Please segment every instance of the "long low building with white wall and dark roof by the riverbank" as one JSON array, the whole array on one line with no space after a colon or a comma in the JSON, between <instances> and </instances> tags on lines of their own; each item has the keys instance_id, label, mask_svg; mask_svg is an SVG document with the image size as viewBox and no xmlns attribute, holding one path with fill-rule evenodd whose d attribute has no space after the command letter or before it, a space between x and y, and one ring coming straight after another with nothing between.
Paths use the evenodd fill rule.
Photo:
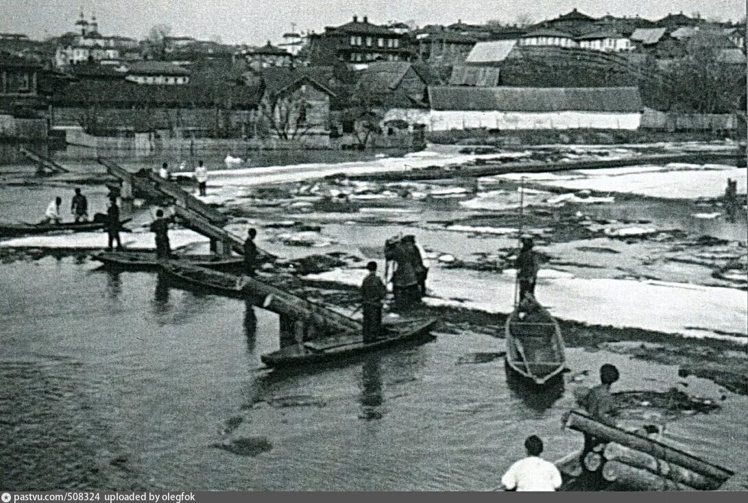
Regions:
<instances>
[{"instance_id":1,"label":"long low building with white wall and dark roof by the riverbank","mask_svg":"<svg viewBox=\"0 0 748 503\"><path fill-rule=\"evenodd\" d=\"M429 131L638 129L638 87L429 87Z\"/></svg>"}]
</instances>

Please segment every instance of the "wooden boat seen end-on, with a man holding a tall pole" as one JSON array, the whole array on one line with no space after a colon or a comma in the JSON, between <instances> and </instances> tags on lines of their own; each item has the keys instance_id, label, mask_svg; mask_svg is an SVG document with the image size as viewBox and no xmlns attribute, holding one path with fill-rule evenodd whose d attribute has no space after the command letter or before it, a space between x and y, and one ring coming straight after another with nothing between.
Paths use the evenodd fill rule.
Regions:
<instances>
[{"instance_id":1,"label":"wooden boat seen end-on, with a man holding a tall pole","mask_svg":"<svg viewBox=\"0 0 748 503\"><path fill-rule=\"evenodd\" d=\"M547 309L539 306L524 319L515 310L506 318L505 333L506 365L512 371L536 385L561 377L565 368L563 338Z\"/></svg>"}]
</instances>

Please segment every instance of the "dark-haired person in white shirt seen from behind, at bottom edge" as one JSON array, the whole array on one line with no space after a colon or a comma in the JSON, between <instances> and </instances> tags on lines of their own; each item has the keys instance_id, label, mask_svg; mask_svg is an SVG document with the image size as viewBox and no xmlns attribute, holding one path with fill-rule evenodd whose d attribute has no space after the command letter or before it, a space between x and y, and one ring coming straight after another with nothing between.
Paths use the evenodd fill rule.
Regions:
<instances>
[{"instance_id":1,"label":"dark-haired person in white shirt seen from behind, at bottom edge","mask_svg":"<svg viewBox=\"0 0 748 503\"><path fill-rule=\"evenodd\" d=\"M540 457L543 441L528 436L524 441L527 457L514 463L501 478L506 490L555 491L561 487L561 473L554 463Z\"/></svg>"}]
</instances>

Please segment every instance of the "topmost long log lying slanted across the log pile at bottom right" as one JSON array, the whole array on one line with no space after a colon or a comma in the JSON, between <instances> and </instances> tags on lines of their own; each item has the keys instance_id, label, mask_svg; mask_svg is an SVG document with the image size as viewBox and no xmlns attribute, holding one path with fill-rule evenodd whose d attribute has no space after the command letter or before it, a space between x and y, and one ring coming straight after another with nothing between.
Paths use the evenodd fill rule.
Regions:
<instances>
[{"instance_id":1,"label":"topmost long log lying slanted across the log pile at bottom right","mask_svg":"<svg viewBox=\"0 0 748 503\"><path fill-rule=\"evenodd\" d=\"M657 442L657 440L648 439L643 436L635 435L634 433L628 433L628 431L623 431L619 428L604 425L603 423L595 421L587 416L583 416L576 411L571 411L571 413L569 413L568 419L566 420L566 426L572 430L596 436L607 442L617 442L626 447L634 448L637 451L651 454L652 456L657 457L657 459L668 463L675 463L683 466L684 468L690 469L700 475L714 478L717 481L720 481L720 484L732 475L732 472L729 469L707 463L696 456Z\"/></svg>"}]
</instances>

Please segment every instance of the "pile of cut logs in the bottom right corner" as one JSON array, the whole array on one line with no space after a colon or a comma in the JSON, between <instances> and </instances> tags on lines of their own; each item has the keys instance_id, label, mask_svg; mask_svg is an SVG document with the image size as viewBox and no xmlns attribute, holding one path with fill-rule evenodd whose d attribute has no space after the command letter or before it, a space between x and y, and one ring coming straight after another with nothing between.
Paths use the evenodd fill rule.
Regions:
<instances>
[{"instance_id":1,"label":"pile of cut logs in the bottom right corner","mask_svg":"<svg viewBox=\"0 0 748 503\"><path fill-rule=\"evenodd\" d=\"M715 490L732 475L721 466L577 412L569 414L566 425L605 443L601 454L589 452L583 463L627 490Z\"/></svg>"}]
</instances>

